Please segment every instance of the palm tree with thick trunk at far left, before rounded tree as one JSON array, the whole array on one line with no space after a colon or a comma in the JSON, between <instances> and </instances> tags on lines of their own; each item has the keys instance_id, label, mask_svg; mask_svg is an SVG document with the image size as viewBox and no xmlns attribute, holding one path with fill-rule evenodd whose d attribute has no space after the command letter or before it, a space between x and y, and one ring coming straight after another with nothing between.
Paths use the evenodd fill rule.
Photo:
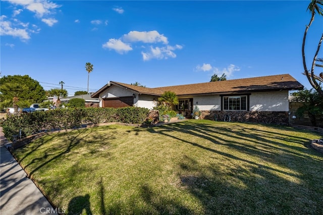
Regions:
<instances>
[{"instance_id":1,"label":"palm tree with thick trunk at far left, before rounded tree","mask_svg":"<svg viewBox=\"0 0 323 215\"><path fill-rule=\"evenodd\" d=\"M19 101L20 94L22 94L27 90L29 90L29 88L26 85L20 84L20 83L14 83L14 82L5 83L1 86L2 93L7 93L13 97L12 103L14 106L14 114L18 114L17 103Z\"/></svg>"}]
</instances>

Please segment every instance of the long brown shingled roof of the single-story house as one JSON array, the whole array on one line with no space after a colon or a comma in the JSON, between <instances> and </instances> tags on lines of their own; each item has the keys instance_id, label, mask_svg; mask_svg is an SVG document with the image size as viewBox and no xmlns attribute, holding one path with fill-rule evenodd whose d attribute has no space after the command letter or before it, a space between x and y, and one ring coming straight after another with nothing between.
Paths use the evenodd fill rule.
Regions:
<instances>
[{"instance_id":1,"label":"long brown shingled roof of the single-story house","mask_svg":"<svg viewBox=\"0 0 323 215\"><path fill-rule=\"evenodd\" d=\"M168 87L140 87L131 84L124 84L120 82L110 82L111 84L125 87L136 91L139 94L149 95L161 95L165 91L173 91L177 95L193 95L193 94L206 94L206 93L245 93L245 92L265 92L265 91L277 91L277 90L299 90L303 89L303 85L300 84L289 74L262 76L255 78L243 78L227 81L214 81L198 84L186 84ZM92 97L98 97L98 94L103 90L110 87L105 85Z\"/></svg>"}]
</instances>

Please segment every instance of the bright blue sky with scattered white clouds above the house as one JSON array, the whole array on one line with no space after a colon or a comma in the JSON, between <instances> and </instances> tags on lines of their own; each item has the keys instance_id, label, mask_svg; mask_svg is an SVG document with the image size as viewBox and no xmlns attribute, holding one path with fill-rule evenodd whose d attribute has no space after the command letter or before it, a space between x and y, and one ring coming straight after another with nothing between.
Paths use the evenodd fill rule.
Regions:
<instances>
[{"instance_id":1,"label":"bright blue sky with scattered white clouds above the house","mask_svg":"<svg viewBox=\"0 0 323 215\"><path fill-rule=\"evenodd\" d=\"M1 75L69 95L109 81L147 87L289 73L307 88L309 1L1 1ZM323 18L309 29L310 64ZM323 57L319 55L319 57ZM308 66L310 67L310 66Z\"/></svg>"}]
</instances>

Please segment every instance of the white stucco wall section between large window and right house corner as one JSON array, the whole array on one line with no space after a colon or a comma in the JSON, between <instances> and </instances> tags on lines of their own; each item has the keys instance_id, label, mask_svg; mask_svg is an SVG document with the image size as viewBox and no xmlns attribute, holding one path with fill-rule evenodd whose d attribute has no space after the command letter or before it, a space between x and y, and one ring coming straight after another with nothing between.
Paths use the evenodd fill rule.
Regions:
<instances>
[{"instance_id":1,"label":"white stucco wall section between large window and right house corner","mask_svg":"<svg viewBox=\"0 0 323 215\"><path fill-rule=\"evenodd\" d=\"M288 90L255 92L250 95L250 111L288 111Z\"/></svg>"}]
</instances>

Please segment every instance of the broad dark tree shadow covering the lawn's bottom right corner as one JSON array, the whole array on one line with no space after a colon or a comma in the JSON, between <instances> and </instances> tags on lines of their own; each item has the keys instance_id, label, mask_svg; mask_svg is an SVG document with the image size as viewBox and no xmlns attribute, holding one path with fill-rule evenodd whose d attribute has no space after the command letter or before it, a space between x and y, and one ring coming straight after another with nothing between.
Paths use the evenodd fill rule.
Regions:
<instances>
[{"instance_id":1,"label":"broad dark tree shadow covering the lawn's bottom right corner","mask_svg":"<svg viewBox=\"0 0 323 215\"><path fill-rule=\"evenodd\" d=\"M179 187L198 198L205 214L321 214L322 197L266 169L199 167L191 157L180 164ZM203 172L197 169L207 169ZM256 175L250 176L250 173ZM304 196L306 193L308 195ZM317 199L315 199L317 197Z\"/></svg>"}]
</instances>

